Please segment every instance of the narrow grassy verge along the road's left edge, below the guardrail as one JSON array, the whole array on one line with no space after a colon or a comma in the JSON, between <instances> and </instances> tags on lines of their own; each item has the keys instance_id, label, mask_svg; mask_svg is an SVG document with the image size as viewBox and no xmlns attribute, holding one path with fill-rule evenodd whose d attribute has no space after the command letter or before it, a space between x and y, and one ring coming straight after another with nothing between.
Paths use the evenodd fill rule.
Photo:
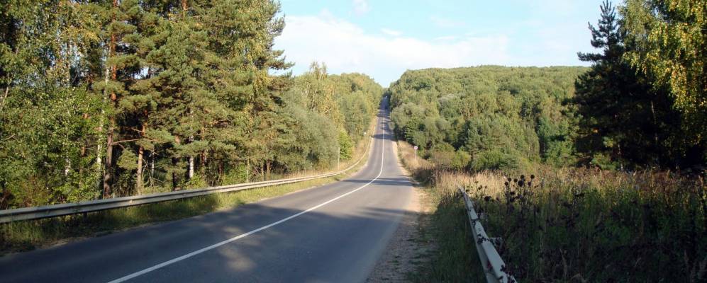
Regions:
<instances>
[{"instance_id":1,"label":"narrow grassy verge along the road's left edge, below the guardrail","mask_svg":"<svg viewBox=\"0 0 707 283\"><path fill-rule=\"evenodd\" d=\"M372 123L372 129L375 121ZM372 132L372 131L371 131ZM225 192L221 194L191 197L189 199L158 202L135 207L91 212L84 215L69 215L50 219L18 221L0 225L0 255L43 248L77 238L102 236L161 221L183 219L191 216L232 209L240 204L257 202L269 197L285 195L289 192L304 190L343 180L357 172L367 161L370 139L361 141L355 148L353 158L342 163L340 168L347 168L363 156L355 168L342 175L306 180L300 183L259 187L251 190ZM311 173L310 175L314 175ZM291 175L288 177L296 177Z\"/></svg>"}]
</instances>

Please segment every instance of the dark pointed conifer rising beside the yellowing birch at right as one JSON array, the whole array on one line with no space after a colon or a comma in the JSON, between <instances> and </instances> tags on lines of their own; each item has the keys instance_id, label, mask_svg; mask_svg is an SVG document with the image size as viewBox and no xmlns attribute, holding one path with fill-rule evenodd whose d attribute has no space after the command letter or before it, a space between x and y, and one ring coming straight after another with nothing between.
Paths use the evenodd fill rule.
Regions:
<instances>
[{"instance_id":1,"label":"dark pointed conifer rising beside the yellowing birch at right","mask_svg":"<svg viewBox=\"0 0 707 283\"><path fill-rule=\"evenodd\" d=\"M589 25L591 45L602 53L579 53L591 71L579 77L574 98L580 115L577 148L605 168L638 164L674 164L680 147L674 144L677 113L671 100L652 88L646 76L625 62L625 31L616 9L605 1L595 28Z\"/></svg>"}]
</instances>

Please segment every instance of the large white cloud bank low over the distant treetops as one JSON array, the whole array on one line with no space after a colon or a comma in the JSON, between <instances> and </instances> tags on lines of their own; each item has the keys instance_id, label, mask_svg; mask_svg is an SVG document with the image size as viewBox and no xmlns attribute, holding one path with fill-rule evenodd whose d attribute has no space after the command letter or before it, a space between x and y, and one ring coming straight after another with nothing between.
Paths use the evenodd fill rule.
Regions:
<instances>
[{"instance_id":1,"label":"large white cloud bank low over the distant treetops","mask_svg":"<svg viewBox=\"0 0 707 283\"><path fill-rule=\"evenodd\" d=\"M285 50L286 59L296 64L296 74L321 61L333 74L362 72L387 86L406 69L511 62L504 35L428 41L369 34L350 22L323 16L287 16L285 21L276 48Z\"/></svg>"}]
</instances>

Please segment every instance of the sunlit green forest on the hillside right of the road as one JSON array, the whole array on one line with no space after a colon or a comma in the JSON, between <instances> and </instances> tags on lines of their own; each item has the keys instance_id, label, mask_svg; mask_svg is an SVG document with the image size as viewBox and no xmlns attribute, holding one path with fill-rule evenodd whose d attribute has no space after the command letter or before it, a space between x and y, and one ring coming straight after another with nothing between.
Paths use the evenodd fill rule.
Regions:
<instances>
[{"instance_id":1,"label":"sunlit green forest on the hillside right of the road","mask_svg":"<svg viewBox=\"0 0 707 283\"><path fill-rule=\"evenodd\" d=\"M574 116L564 102L574 96L572 82L584 71L495 66L407 71L389 89L391 122L399 138L431 150L433 162L457 170L573 163Z\"/></svg>"}]
</instances>

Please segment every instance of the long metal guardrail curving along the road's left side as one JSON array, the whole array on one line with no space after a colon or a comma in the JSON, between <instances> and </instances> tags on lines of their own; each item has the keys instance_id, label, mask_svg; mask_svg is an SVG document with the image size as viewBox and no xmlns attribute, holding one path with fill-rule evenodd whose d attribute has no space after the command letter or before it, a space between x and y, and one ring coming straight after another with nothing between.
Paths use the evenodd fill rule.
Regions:
<instances>
[{"instance_id":1,"label":"long metal guardrail curving along the road's left side","mask_svg":"<svg viewBox=\"0 0 707 283\"><path fill-rule=\"evenodd\" d=\"M372 138L371 138L372 139ZM327 178L335 175L340 175L346 171L351 170L360 163L364 157L369 154L369 149L371 147L371 140L369 139L366 151L364 154L351 166L345 168L342 171L337 171L333 173L323 173L319 175L311 175L305 177L297 178L286 178L278 180L268 180L253 183L243 183L235 185L223 185L218 187L206 187L203 189L195 190L179 190L174 192L157 192L148 195L135 195L131 197L115 197L111 199L104 200L91 200L87 202L74 202L68 204L52 204L45 205L42 207L23 207L18 209L6 209L0 210L0 224L8 223L12 221L30 220L30 219L41 219L49 218L55 216L65 216L70 214L82 214L86 212L97 212L106 209L116 209L121 207L132 207L140 204L150 204L155 202L166 202L169 200L181 200L189 197L198 197L200 195L211 195L220 192L235 192L239 190L248 190L256 187L269 187L273 185L284 185L289 183L298 183L306 180L313 180L319 178Z\"/></svg>"}]
</instances>

